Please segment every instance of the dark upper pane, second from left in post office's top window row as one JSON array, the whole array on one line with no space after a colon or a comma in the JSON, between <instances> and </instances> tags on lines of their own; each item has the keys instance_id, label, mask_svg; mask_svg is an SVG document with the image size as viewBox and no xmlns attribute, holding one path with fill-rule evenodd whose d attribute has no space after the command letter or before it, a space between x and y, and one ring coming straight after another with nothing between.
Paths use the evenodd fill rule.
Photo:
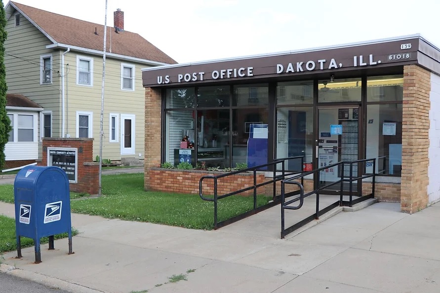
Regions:
<instances>
[{"instance_id":1,"label":"dark upper pane, second from left in post office's top window row","mask_svg":"<svg viewBox=\"0 0 440 293\"><path fill-rule=\"evenodd\" d=\"M198 92L198 107L229 107L230 86L202 86Z\"/></svg>"}]
</instances>

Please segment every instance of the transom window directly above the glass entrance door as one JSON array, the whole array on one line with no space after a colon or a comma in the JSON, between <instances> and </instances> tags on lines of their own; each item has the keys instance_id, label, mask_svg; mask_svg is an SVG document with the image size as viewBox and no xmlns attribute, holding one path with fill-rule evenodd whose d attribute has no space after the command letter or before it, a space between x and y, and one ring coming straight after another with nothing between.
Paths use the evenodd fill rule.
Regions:
<instances>
[{"instance_id":1,"label":"transom window directly above the glass entrance door","mask_svg":"<svg viewBox=\"0 0 440 293\"><path fill-rule=\"evenodd\" d=\"M360 78L330 79L318 81L318 102L357 102L361 98Z\"/></svg>"}]
</instances>

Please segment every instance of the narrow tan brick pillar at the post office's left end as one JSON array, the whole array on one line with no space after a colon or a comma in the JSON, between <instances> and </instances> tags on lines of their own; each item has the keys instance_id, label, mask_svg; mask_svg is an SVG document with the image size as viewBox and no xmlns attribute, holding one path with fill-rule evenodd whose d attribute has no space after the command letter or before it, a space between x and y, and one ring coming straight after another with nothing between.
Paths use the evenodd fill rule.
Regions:
<instances>
[{"instance_id":1,"label":"narrow tan brick pillar at the post office's left end","mask_svg":"<svg viewBox=\"0 0 440 293\"><path fill-rule=\"evenodd\" d=\"M145 89L145 160L144 188L150 189L150 168L160 164L162 133L161 90Z\"/></svg>"}]
</instances>

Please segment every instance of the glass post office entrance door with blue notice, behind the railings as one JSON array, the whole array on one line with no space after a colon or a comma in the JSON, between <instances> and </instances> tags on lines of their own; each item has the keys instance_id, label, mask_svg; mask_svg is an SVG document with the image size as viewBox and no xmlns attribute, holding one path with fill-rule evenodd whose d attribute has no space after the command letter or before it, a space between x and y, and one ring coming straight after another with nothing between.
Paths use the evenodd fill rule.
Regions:
<instances>
[{"instance_id":1,"label":"glass post office entrance door with blue notice, behind the railings","mask_svg":"<svg viewBox=\"0 0 440 293\"><path fill-rule=\"evenodd\" d=\"M341 161L356 161L360 158L360 107L347 106L344 108L318 109L318 139L317 168L330 166ZM350 177L349 165L344 167L345 178ZM358 166L353 166L353 177L358 175ZM334 183L341 178L341 167L330 167L320 172L319 180L315 181L318 187ZM348 190L348 183L344 190ZM340 184L330 186L326 193L337 193ZM353 183L356 194L358 186Z\"/></svg>"}]
</instances>

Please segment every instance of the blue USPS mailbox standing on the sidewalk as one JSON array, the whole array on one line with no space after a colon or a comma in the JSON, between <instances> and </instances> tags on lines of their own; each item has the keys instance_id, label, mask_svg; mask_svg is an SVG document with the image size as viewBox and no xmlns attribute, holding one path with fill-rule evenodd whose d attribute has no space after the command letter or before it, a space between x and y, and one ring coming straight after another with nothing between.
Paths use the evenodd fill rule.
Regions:
<instances>
[{"instance_id":1,"label":"blue USPS mailbox standing on the sidewalk","mask_svg":"<svg viewBox=\"0 0 440 293\"><path fill-rule=\"evenodd\" d=\"M49 236L49 250L54 249L53 235L69 234L72 252L69 179L59 167L28 166L14 181L15 233L17 254L21 255L20 237L34 239L35 262L41 262L40 238Z\"/></svg>"}]
</instances>

